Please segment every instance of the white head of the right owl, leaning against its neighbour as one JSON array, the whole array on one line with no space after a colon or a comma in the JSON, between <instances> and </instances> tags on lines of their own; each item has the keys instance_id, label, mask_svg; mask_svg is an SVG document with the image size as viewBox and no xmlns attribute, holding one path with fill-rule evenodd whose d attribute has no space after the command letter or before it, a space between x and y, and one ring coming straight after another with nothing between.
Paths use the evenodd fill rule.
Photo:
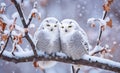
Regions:
<instances>
[{"instance_id":1,"label":"white head of the right owl, leaning against its neighbour","mask_svg":"<svg viewBox=\"0 0 120 73\"><path fill-rule=\"evenodd\" d=\"M77 30L79 27L79 24L72 19L64 19L61 21L61 25L59 27L61 33L70 33L73 30Z\"/></svg>"}]
</instances>

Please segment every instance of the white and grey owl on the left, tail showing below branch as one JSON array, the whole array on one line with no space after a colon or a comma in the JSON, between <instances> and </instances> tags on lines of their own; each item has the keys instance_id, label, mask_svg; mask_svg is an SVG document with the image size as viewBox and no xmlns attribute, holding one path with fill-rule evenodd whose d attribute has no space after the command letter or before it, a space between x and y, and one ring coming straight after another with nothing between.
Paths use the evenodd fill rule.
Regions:
<instances>
[{"instance_id":1,"label":"white and grey owl on the left, tail showing below branch","mask_svg":"<svg viewBox=\"0 0 120 73\"><path fill-rule=\"evenodd\" d=\"M54 17L45 18L38 30L35 32L35 44L38 51L53 54L60 51L59 21ZM55 61L39 61L40 68L50 68L56 64Z\"/></svg>"}]
</instances>

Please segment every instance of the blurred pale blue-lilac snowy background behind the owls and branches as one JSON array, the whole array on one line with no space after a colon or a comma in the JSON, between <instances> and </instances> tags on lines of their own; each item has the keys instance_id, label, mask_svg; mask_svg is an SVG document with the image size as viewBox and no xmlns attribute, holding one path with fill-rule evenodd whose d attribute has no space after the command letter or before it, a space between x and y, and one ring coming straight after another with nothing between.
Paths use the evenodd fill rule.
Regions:
<instances>
[{"instance_id":1,"label":"blurred pale blue-lilac snowy background behind the owls and branches","mask_svg":"<svg viewBox=\"0 0 120 73\"><path fill-rule=\"evenodd\" d=\"M19 3L21 0L17 0ZM30 33L34 35L37 27L41 21L46 17L55 17L60 21L66 18L76 20L79 25L86 31L89 42L94 47L96 45L96 39L99 34L99 25L91 28L87 24L87 20L91 17L102 18L104 0L23 0L23 12L27 18L31 9L33 8L34 1L38 2L37 9L41 13L41 20L33 19L31 23L35 24L35 27L30 29ZM6 15L11 18L11 15L16 12L14 4L10 0L0 0L0 3L6 3ZM120 62L120 0L114 0L111 5L111 10L107 16L113 21L113 27L107 27L102 34L101 45L108 45L112 51L112 60ZM17 20L18 25L22 25L20 20ZM32 31L31 31L32 30ZM26 48L25 44L22 45ZM10 44L8 47L10 48ZM29 46L27 46L29 47ZM58 63L52 68L46 69L46 73L70 73L70 64ZM32 62L28 63L12 63L0 59L0 73L42 73L39 68L34 68ZM79 73L114 73L98 68L83 66Z\"/></svg>"}]
</instances>

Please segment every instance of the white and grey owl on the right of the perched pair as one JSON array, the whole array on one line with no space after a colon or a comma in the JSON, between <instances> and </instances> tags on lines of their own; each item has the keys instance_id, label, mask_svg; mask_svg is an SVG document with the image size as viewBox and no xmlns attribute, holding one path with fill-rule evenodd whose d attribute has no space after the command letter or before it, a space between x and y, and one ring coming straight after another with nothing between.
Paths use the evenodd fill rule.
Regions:
<instances>
[{"instance_id":1,"label":"white and grey owl on the right of the perched pair","mask_svg":"<svg viewBox=\"0 0 120 73\"><path fill-rule=\"evenodd\" d=\"M89 43L87 34L75 20L64 19L61 21L59 30L63 53L73 60L79 60L83 55L88 54Z\"/></svg>"}]
</instances>

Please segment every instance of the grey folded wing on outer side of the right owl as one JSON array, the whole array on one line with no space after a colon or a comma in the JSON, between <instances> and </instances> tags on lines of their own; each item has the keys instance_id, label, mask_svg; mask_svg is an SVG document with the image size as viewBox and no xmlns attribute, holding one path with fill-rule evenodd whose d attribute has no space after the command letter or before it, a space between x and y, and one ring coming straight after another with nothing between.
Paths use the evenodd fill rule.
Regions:
<instances>
[{"instance_id":1,"label":"grey folded wing on outer side of the right owl","mask_svg":"<svg viewBox=\"0 0 120 73\"><path fill-rule=\"evenodd\" d=\"M71 36L68 49L73 59L80 59L84 54L87 54L83 41L85 40L79 31Z\"/></svg>"}]
</instances>

